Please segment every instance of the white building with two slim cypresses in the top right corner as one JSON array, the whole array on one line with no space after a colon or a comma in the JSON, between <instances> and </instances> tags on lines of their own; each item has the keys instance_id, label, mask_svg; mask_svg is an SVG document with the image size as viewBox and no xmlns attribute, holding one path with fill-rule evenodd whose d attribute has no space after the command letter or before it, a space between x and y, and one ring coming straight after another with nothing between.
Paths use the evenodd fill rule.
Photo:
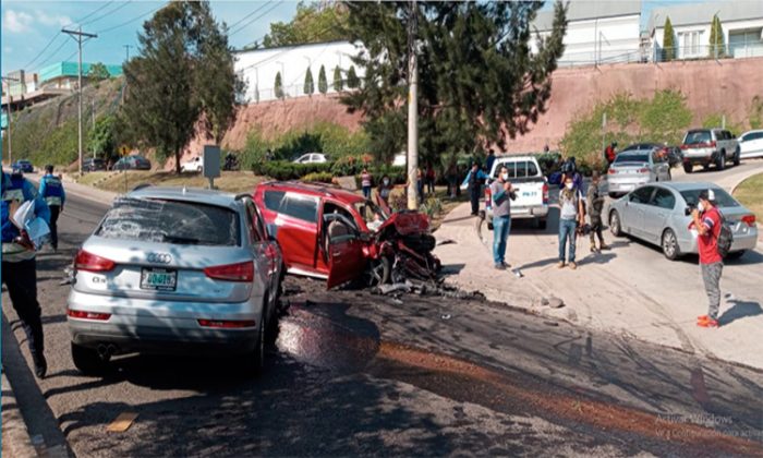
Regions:
<instances>
[{"instance_id":1,"label":"white building with two slim cypresses in the top right corner","mask_svg":"<svg viewBox=\"0 0 763 458\"><path fill-rule=\"evenodd\" d=\"M665 20L670 17L677 59L701 59L711 53L710 33L713 16L718 15L724 33L724 55L763 57L763 1L736 0L656 8L649 22L653 58L664 56Z\"/></svg>"}]
</instances>

